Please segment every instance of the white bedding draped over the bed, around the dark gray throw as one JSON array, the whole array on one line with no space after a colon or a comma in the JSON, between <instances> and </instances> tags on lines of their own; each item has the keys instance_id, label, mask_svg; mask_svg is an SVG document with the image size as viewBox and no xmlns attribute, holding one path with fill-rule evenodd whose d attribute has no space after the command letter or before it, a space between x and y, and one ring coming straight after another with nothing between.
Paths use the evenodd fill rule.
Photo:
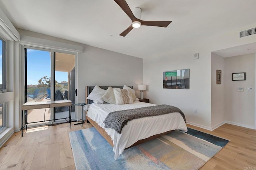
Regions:
<instances>
[{"instance_id":1,"label":"white bedding draped over the bed, around the dark gray throw","mask_svg":"<svg viewBox=\"0 0 256 170\"><path fill-rule=\"evenodd\" d=\"M154 104L135 101L132 104L114 105L114 104L100 104L92 103L88 108L87 116L98 125L106 130L111 137L115 152L115 160L124 151L140 139L148 138L155 134L160 134L169 130L180 129L183 132L188 131L184 119L180 113L171 113L154 117L144 117L129 121L127 125L122 128L121 134L117 133L112 128L104 127L104 120L108 113L113 111L135 109L139 107L153 106Z\"/></svg>"}]
</instances>

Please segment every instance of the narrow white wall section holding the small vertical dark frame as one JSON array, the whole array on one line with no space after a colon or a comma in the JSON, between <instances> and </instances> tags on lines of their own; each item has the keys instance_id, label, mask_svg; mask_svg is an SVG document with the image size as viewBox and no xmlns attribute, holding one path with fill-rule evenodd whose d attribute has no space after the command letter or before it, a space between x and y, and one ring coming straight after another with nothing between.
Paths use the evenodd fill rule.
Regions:
<instances>
[{"instance_id":1,"label":"narrow white wall section holding the small vertical dark frame","mask_svg":"<svg viewBox=\"0 0 256 170\"><path fill-rule=\"evenodd\" d=\"M226 68L225 58L214 53L211 54L211 70L212 70L212 128L221 125L225 119L225 84L226 84ZM222 71L221 84L216 83L216 70Z\"/></svg>"}]
</instances>

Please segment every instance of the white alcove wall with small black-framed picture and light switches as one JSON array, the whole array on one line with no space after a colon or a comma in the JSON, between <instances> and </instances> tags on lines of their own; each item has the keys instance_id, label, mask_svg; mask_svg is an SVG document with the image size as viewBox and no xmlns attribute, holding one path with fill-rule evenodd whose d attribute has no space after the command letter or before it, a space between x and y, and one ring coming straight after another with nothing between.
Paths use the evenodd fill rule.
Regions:
<instances>
[{"instance_id":1,"label":"white alcove wall with small black-framed picture and light switches","mask_svg":"<svg viewBox=\"0 0 256 170\"><path fill-rule=\"evenodd\" d=\"M225 120L243 127L254 128L254 53L225 58ZM246 81L232 81L232 73L246 72ZM244 87L244 91L237 90ZM247 91L252 87L253 91Z\"/></svg>"}]
</instances>

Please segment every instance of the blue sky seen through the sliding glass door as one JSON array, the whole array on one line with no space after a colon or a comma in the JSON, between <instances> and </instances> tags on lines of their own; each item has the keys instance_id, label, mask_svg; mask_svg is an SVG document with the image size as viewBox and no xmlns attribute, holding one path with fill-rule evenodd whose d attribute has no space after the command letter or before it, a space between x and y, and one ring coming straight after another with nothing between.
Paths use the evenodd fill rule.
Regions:
<instances>
[{"instance_id":1,"label":"blue sky seen through the sliding glass door","mask_svg":"<svg viewBox=\"0 0 256 170\"><path fill-rule=\"evenodd\" d=\"M37 85L38 80L51 75L51 59L49 51L27 49L27 85ZM68 72L56 71L56 80L68 81Z\"/></svg>"}]
</instances>

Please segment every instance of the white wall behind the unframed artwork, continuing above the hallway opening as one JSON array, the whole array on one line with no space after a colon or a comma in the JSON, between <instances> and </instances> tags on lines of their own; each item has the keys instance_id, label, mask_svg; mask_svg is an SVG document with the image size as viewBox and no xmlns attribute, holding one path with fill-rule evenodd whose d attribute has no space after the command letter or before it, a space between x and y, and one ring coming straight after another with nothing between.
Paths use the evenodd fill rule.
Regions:
<instances>
[{"instance_id":1,"label":"white wall behind the unframed artwork, continuing above the hallway opening","mask_svg":"<svg viewBox=\"0 0 256 170\"><path fill-rule=\"evenodd\" d=\"M188 123L212 130L215 120L212 123L211 52L255 42L256 35L238 38L239 31L255 26L187 42L179 48L170 49L168 53L159 51L158 56L144 59L143 83L148 85L145 98L152 103L177 106L186 115ZM194 53L199 53L199 59L193 59ZM190 69L190 89L163 89L163 71L176 69ZM198 113L193 113L193 109L197 109Z\"/></svg>"}]
</instances>

